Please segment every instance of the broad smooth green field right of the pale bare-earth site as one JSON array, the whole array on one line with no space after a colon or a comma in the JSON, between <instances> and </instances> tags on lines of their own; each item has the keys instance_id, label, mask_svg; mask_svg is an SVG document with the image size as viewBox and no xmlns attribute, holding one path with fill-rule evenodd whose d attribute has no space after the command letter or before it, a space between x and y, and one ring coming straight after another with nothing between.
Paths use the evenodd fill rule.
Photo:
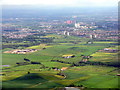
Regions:
<instances>
[{"instance_id":1,"label":"broad smooth green field right of the pale bare-earth site","mask_svg":"<svg viewBox=\"0 0 120 90\"><path fill-rule=\"evenodd\" d=\"M32 53L34 55L48 55L48 56L62 56L64 54L75 54L75 55L91 55L97 50L103 49L105 46L90 46L90 45L55 45L45 50Z\"/></svg>"}]
</instances>

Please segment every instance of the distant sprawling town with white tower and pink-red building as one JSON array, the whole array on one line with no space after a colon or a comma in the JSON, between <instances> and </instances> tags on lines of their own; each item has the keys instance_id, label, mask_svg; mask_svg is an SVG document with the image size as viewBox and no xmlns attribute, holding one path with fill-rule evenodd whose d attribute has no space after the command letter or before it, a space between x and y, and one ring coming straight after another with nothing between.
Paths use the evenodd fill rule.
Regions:
<instances>
[{"instance_id":1,"label":"distant sprawling town with white tower and pink-red building","mask_svg":"<svg viewBox=\"0 0 120 90\"><path fill-rule=\"evenodd\" d=\"M101 25L96 22L77 22L77 16L72 17L73 20L51 20L51 21L37 21L32 26L16 25L15 23L3 23L2 30L3 36L7 38L23 38L29 35L45 33L45 34L58 34L58 35L73 35L79 37L86 37L97 39L118 39L119 31L117 30L117 19L112 17L105 19ZM42 18L37 18L37 20ZM75 20L74 20L75 19ZM93 18L91 18L93 19ZM26 18L9 18L3 21L26 21ZM36 20L30 18L27 20ZM90 19L89 19L90 20ZM32 22L32 21L31 21ZM104 31L103 31L104 30Z\"/></svg>"}]
</instances>

